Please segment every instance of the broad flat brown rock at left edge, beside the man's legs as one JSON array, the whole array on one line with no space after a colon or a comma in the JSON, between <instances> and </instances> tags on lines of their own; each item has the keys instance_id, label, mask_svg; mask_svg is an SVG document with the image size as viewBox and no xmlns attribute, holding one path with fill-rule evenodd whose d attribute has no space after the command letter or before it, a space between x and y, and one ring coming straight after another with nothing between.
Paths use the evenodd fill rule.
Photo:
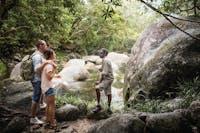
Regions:
<instances>
[{"instance_id":1,"label":"broad flat brown rock at left edge, beside the man's legs","mask_svg":"<svg viewBox=\"0 0 200 133\"><path fill-rule=\"evenodd\" d=\"M15 82L5 79L0 83L3 87L0 91L1 100L10 108L30 110L33 87L30 81Z\"/></svg>"}]
</instances>

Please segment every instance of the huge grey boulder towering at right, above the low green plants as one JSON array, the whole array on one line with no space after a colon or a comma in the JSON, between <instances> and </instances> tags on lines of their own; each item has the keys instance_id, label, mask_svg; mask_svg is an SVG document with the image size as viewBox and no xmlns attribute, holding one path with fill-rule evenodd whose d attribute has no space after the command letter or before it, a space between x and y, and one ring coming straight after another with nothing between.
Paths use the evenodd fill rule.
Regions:
<instances>
[{"instance_id":1,"label":"huge grey boulder towering at right, above the low green plants","mask_svg":"<svg viewBox=\"0 0 200 133\"><path fill-rule=\"evenodd\" d=\"M192 36L200 37L198 23L172 21ZM151 25L132 47L124 79L125 101L134 101L138 93L144 98L175 97L178 80L191 80L200 73L199 53L200 41L167 20Z\"/></svg>"}]
</instances>

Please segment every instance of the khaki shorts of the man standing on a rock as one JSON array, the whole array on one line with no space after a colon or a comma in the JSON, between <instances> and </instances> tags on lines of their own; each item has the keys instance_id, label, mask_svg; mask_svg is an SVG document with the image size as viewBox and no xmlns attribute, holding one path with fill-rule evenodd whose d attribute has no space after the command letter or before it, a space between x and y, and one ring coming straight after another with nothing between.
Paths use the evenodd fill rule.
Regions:
<instances>
[{"instance_id":1,"label":"khaki shorts of the man standing on a rock","mask_svg":"<svg viewBox=\"0 0 200 133\"><path fill-rule=\"evenodd\" d=\"M96 89L104 90L105 95L111 94L111 85L113 80L103 80L101 83L95 86Z\"/></svg>"}]
</instances>

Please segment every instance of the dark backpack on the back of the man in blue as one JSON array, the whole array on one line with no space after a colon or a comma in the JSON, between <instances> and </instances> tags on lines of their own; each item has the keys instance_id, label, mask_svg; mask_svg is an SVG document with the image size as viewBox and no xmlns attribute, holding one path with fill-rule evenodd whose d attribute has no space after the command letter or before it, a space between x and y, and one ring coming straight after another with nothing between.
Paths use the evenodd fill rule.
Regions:
<instances>
[{"instance_id":1,"label":"dark backpack on the back of the man in blue","mask_svg":"<svg viewBox=\"0 0 200 133\"><path fill-rule=\"evenodd\" d=\"M26 55L21 61L20 75L25 81L34 79L32 55Z\"/></svg>"}]
</instances>

